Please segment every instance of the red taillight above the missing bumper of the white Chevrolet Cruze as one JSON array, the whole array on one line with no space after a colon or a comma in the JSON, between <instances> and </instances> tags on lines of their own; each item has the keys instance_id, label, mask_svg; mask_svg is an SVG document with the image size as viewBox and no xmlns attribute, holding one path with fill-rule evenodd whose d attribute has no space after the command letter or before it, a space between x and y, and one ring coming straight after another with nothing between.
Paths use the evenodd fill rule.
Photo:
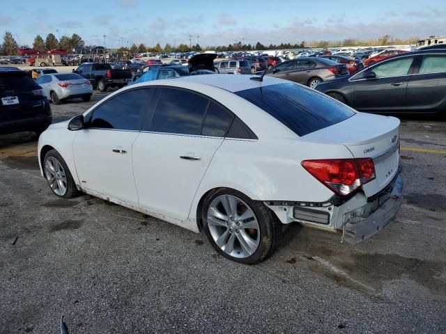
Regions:
<instances>
[{"instance_id":1,"label":"red taillight above the missing bumper of the white Chevrolet Cruze","mask_svg":"<svg viewBox=\"0 0 446 334\"><path fill-rule=\"evenodd\" d=\"M374 161L370 158L305 160L302 166L341 196L353 193L375 178Z\"/></svg>"}]
</instances>

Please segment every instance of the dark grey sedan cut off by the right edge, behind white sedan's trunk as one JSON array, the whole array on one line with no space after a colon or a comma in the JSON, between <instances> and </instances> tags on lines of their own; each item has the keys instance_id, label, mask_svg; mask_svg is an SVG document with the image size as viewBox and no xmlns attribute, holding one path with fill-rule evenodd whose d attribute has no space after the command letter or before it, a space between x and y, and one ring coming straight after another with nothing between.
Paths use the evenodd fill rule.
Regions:
<instances>
[{"instance_id":1,"label":"dark grey sedan cut off by the right edge, behind white sedan's trunk","mask_svg":"<svg viewBox=\"0 0 446 334\"><path fill-rule=\"evenodd\" d=\"M365 67L316 90L359 111L446 114L446 50L415 51Z\"/></svg>"}]
</instances>

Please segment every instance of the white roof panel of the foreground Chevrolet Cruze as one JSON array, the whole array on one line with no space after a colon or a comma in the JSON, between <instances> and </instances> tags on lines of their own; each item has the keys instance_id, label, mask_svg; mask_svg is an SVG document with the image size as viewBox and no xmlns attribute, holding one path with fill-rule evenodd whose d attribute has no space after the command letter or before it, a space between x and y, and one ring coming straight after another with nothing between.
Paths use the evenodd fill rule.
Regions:
<instances>
[{"instance_id":1,"label":"white roof panel of the foreground Chevrolet Cruze","mask_svg":"<svg viewBox=\"0 0 446 334\"><path fill-rule=\"evenodd\" d=\"M263 81L251 80L251 77L258 77L254 75L228 75L228 74L210 74L210 75L191 75L186 77L180 77L174 80L169 80L169 83L173 81L191 82L195 84L203 84L208 86L214 86L228 90L231 93L238 92L240 90L247 90L251 88L259 88L262 86L270 86L277 84L284 84L286 80L263 77ZM148 81L151 84L157 84L157 82L164 80Z\"/></svg>"}]
</instances>

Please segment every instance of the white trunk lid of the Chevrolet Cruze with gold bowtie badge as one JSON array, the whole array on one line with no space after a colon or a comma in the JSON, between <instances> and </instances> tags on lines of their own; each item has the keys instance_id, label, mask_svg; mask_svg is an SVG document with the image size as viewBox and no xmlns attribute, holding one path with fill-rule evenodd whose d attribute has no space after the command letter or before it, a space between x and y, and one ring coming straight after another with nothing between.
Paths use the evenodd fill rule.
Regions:
<instances>
[{"instance_id":1,"label":"white trunk lid of the Chevrolet Cruze with gold bowtie badge","mask_svg":"<svg viewBox=\"0 0 446 334\"><path fill-rule=\"evenodd\" d=\"M384 189L398 173L398 118L356 113L343 122L307 134L302 139L341 144L355 158L373 158L376 177L362 186L367 197Z\"/></svg>"}]
</instances>

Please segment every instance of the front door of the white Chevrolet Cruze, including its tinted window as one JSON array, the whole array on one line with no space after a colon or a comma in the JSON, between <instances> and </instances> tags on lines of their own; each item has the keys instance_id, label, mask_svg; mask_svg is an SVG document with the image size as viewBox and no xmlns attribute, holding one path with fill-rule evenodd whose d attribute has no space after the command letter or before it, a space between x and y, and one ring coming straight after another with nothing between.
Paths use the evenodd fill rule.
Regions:
<instances>
[{"instance_id":1,"label":"front door of the white Chevrolet Cruze, including its tinted window","mask_svg":"<svg viewBox=\"0 0 446 334\"><path fill-rule=\"evenodd\" d=\"M84 189L137 205L132 145L154 88L126 90L86 116L73 143L77 177Z\"/></svg>"}]
</instances>

